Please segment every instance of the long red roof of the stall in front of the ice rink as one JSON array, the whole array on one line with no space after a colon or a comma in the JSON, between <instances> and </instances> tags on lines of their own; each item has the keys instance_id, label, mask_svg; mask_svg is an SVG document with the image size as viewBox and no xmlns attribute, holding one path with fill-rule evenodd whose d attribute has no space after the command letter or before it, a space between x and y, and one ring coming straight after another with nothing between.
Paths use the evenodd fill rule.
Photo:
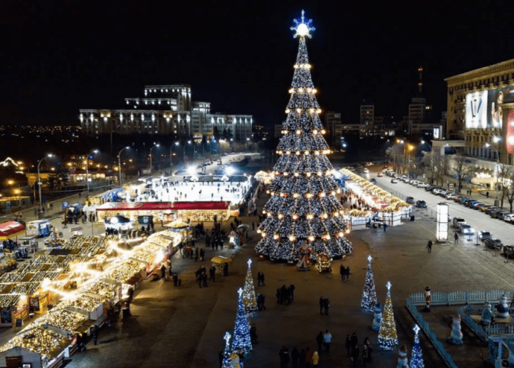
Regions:
<instances>
[{"instance_id":1,"label":"long red roof of the stall in front of the ice rink","mask_svg":"<svg viewBox=\"0 0 514 368\"><path fill-rule=\"evenodd\" d=\"M106 202L97 211L226 210L230 202Z\"/></svg>"}]
</instances>

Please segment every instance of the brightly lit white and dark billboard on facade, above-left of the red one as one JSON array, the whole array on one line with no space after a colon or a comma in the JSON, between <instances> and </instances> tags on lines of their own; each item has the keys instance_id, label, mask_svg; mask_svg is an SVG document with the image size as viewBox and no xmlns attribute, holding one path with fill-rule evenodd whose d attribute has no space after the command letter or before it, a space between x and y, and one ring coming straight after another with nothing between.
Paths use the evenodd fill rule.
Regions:
<instances>
[{"instance_id":1,"label":"brightly lit white and dark billboard on facade, above-left of the red one","mask_svg":"<svg viewBox=\"0 0 514 368\"><path fill-rule=\"evenodd\" d=\"M466 95L466 128L502 129L503 111L500 104L513 101L513 87L468 93Z\"/></svg>"}]
</instances>

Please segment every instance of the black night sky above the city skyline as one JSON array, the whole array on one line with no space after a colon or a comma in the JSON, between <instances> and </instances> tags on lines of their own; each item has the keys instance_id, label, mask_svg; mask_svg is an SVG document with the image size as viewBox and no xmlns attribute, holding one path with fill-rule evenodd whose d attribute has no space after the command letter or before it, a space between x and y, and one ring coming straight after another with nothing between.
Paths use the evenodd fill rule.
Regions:
<instances>
[{"instance_id":1,"label":"black night sky above the city skyline","mask_svg":"<svg viewBox=\"0 0 514 368\"><path fill-rule=\"evenodd\" d=\"M514 58L511 1L0 1L0 123L77 124L145 84L191 84L212 112L285 119L305 9L323 110L358 119L363 98L400 118L417 92L437 116L444 77Z\"/></svg>"}]
</instances>

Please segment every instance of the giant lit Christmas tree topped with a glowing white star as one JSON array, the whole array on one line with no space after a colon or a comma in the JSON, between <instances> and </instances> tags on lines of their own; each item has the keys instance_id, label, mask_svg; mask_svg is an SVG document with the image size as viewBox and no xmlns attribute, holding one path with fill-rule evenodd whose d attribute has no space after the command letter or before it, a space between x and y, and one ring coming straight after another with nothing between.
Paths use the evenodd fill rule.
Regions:
<instances>
[{"instance_id":1,"label":"giant lit Christmas tree topped with a glowing white star","mask_svg":"<svg viewBox=\"0 0 514 368\"><path fill-rule=\"evenodd\" d=\"M327 154L329 146L323 138L321 112L312 83L306 38L310 38L312 20L294 20L294 37L300 39L294 64L290 101L285 113L283 136L277 147L274 180L268 188L270 200L263 213L261 241L257 253L272 260L299 260L301 247L312 254L325 253L331 258L352 252L344 238L346 226L342 206L336 198L340 188L334 180Z\"/></svg>"}]
</instances>

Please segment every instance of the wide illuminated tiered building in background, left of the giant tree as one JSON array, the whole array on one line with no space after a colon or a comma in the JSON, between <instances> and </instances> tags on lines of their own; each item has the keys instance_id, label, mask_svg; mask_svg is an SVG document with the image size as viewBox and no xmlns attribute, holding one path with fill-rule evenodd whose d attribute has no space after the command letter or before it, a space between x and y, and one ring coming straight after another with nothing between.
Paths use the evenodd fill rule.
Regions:
<instances>
[{"instance_id":1,"label":"wide illuminated tiered building in background, left of the giant tree","mask_svg":"<svg viewBox=\"0 0 514 368\"><path fill-rule=\"evenodd\" d=\"M173 134L177 138L231 132L235 140L252 135L252 115L211 114L211 103L191 100L191 86L145 86L144 97L127 97L124 108L80 109L83 134Z\"/></svg>"}]
</instances>

